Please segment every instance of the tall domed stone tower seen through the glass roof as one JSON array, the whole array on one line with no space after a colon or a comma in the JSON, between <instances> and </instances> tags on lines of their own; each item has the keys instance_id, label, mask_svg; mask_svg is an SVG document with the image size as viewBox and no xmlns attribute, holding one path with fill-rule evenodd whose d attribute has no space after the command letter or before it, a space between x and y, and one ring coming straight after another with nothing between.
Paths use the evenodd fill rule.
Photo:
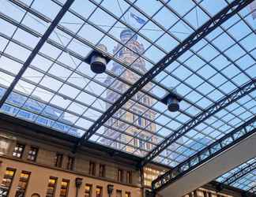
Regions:
<instances>
[{"instance_id":1,"label":"tall domed stone tower seen through the glass roof","mask_svg":"<svg viewBox=\"0 0 256 197\"><path fill-rule=\"evenodd\" d=\"M137 55L143 54L145 49L144 46L137 41L137 35L134 35L134 32L130 31L130 29L124 29L120 33L120 39L127 48L123 47L121 44L115 46L113 50L115 57L124 61L126 65L130 65L132 69L137 69L142 74L145 74L145 72L147 72L145 61ZM135 54L133 50L136 51L137 54ZM123 68L122 65L119 65L117 62L113 63L111 71L117 76L122 74L121 77L130 81L131 84L138 80L139 77L134 75L134 72L129 69ZM105 82L110 84L111 88L120 91L120 94L123 94L129 88L119 80L114 81L110 76ZM152 85L148 84L145 89L149 90L150 87L152 87ZM154 119L156 113L149 110L148 107L152 105L152 98L147 95L141 98L142 95L143 94L141 92L134 95L134 100L139 100L142 105L138 102L134 104L134 102L128 101L124 106L122 106L122 109L129 109L130 112L133 113L120 109L107 121L107 125L112 128L105 129L105 136L107 136L108 139L102 139L102 143L130 153L133 153L138 148L140 151L135 152L135 154L139 154L141 156L145 154L145 150L149 151L152 149L152 142L156 141L156 137L152 136L150 133L156 132L156 125L150 120ZM106 99L110 102L115 102L118 97L119 94L115 91L107 91ZM107 104L107 107L109 106L110 104ZM147 112L145 113L145 111ZM142 115L142 113L145 114ZM120 114L122 114L121 117ZM139 114L141 114L141 116L139 116ZM117 121L117 119L115 119L116 117L119 117L122 121ZM127 125L125 122L131 123L132 126ZM145 129L149 132L145 132ZM125 133L121 134L118 130L125 131ZM136 136L136 139L133 139L134 136ZM124 144L127 143L128 146L119 142L113 142L111 139L116 139ZM147 143L143 139L149 142Z\"/></svg>"}]
</instances>

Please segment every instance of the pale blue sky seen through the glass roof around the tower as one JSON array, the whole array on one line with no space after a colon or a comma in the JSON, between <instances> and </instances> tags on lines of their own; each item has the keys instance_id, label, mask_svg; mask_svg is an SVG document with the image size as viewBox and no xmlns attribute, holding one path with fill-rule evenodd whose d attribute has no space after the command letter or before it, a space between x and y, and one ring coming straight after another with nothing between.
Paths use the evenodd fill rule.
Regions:
<instances>
[{"instance_id":1,"label":"pale blue sky seen through the glass roof around the tower","mask_svg":"<svg viewBox=\"0 0 256 197\"><path fill-rule=\"evenodd\" d=\"M12 2L0 1L0 85L5 88L9 87L23 62L40 40L40 36L51 24L50 21L61 9L51 0L21 2L39 12L44 20L32 13L25 13L24 9L13 5ZM59 1L59 4L64 2ZM36 55L22 80L15 87L15 91L20 91L29 98L40 97L39 102L62 110L62 116L83 134L107 110L105 98L107 88L111 87L105 83L107 76L113 80L122 78L127 83L134 84L134 81L125 79L122 74L115 76L115 73L111 72L113 61L107 65L107 72L95 75L89 65L81 61L92 51L92 46L104 44L109 55L114 56L113 49L120 43L120 32L124 28L130 28L137 32L137 41L145 47L145 53L141 56L146 69L151 69L194 30L227 6L225 0L165 2L166 6L155 0L146 3L145 0L75 0L70 12L66 13L59 23L59 27L72 32L76 38L72 38L61 28L55 28L55 32L49 38L51 43L43 45L40 54ZM137 23L130 13L145 20L145 23ZM23 30L10 24L6 17L18 24L21 23ZM239 15L216 28L152 80L152 90L148 94L153 97L153 102L149 107L156 111L154 121L157 143L202 110L256 76L256 38L253 32L255 28L256 20L250 14L250 9L243 9ZM8 38L12 39L12 42L9 42ZM60 48L66 51L62 52ZM9 56L16 59L13 61ZM122 59L117 58L115 61L122 62ZM130 69L130 66L127 68ZM143 74L136 69L132 72L137 77ZM128 87L127 85L126 88ZM169 112L167 106L160 102L160 99L173 89L183 97L180 103L181 110L176 113ZM119 92L116 88L113 91ZM123 92L119 92L119 96L121 93ZM192 154L198 151L191 150L189 144L205 138L210 139L206 140L207 143L201 143L202 147L205 147L211 140L232 131L255 113L253 91L190 130L183 137L182 143L175 143L176 150L171 150L172 156L164 159L162 155L160 160L168 165L177 165L189 156L184 152L189 150ZM39 115L43 115L43 110ZM100 128L91 140L100 143L104 131L104 127ZM122 151L125 151L127 146L130 144L124 143ZM133 154L144 156L147 151L149 150L134 151Z\"/></svg>"}]
</instances>

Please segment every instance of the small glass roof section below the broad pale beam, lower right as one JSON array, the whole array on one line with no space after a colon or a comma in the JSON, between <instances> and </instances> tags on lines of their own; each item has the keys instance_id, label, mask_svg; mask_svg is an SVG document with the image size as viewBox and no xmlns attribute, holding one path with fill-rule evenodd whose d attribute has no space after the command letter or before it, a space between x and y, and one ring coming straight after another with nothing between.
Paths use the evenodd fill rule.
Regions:
<instances>
[{"instance_id":1,"label":"small glass roof section below the broad pale beam, lower right","mask_svg":"<svg viewBox=\"0 0 256 197\"><path fill-rule=\"evenodd\" d=\"M228 177L232 177L233 174L239 172L241 169L246 168L248 165L252 165L256 162L256 158L252 158L249 161L243 163L242 165L239 165L235 169L232 169L228 173L225 173L221 177L217 178L217 181L223 182ZM254 188L256 188L256 169L250 171L250 173L245 174L243 177L240 177L239 179L235 180L231 184L232 187L242 189L244 191L255 191Z\"/></svg>"}]
</instances>

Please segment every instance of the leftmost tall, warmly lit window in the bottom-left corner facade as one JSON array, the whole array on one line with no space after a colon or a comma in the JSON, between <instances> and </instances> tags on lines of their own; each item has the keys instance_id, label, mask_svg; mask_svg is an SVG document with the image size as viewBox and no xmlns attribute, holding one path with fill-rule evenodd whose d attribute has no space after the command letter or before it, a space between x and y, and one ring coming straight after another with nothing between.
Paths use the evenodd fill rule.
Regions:
<instances>
[{"instance_id":1,"label":"leftmost tall, warmly lit window in the bottom-left corner facade","mask_svg":"<svg viewBox=\"0 0 256 197\"><path fill-rule=\"evenodd\" d=\"M13 177L15 175L16 169L6 169L6 173L2 179L2 184L0 185L0 196L6 197L9 194L9 190L13 183Z\"/></svg>"}]
</instances>

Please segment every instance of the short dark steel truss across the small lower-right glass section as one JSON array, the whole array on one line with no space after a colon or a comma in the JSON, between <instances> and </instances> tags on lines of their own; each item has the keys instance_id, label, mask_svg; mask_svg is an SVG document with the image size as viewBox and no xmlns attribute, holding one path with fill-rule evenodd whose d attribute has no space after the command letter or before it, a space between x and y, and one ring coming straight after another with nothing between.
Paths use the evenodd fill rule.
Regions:
<instances>
[{"instance_id":1,"label":"short dark steel truss across the small lower-right glass section","mask_svg":"<svg viewBox=\"0 0 256 197\"><path fill-rule=\"evenodd\" d=\"M243 176L247 175L256 169L256 162L252 162L249 165L244 166L243 168L239 169L238 172L232 174L232 176L227 177L222 183L223 184L233 184L236 180L239 180Z\"/></svg>"}]
</instances>

